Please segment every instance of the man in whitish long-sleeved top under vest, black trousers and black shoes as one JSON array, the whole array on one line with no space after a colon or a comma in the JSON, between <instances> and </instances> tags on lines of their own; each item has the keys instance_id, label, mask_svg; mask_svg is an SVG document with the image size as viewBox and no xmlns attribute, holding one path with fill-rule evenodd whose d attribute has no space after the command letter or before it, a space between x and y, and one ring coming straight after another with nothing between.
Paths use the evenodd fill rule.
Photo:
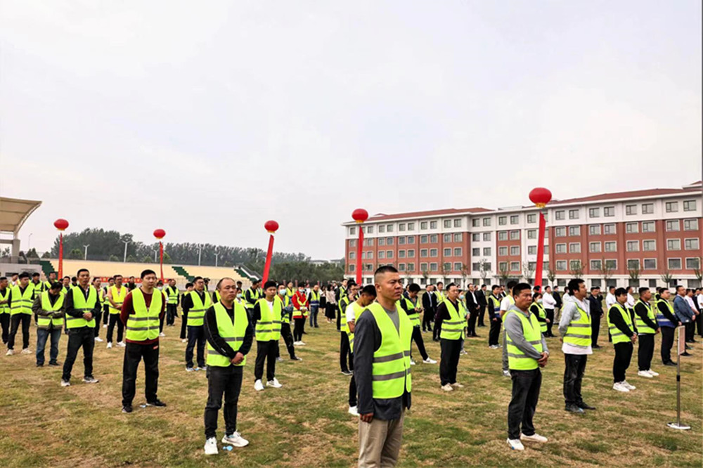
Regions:
<instances>
[{"instance_id":1,"label":"man in whitish long-sleeved top under vest, black trousers and black shoes","mask_svg":"<svg viewBox=\"0 0 703 468\"><path fill-rule=\"evenodd\" d=\"M569 281L569 300L564 298L562 318L559 322L559 334L564 353L566 369L564 372L565 410L583 413L583 410L595 410L583 402L581 381L586 371L588 355L591 349L591 313L586 301L586 283L579 278Z\"/></svg>"}]
</instances>

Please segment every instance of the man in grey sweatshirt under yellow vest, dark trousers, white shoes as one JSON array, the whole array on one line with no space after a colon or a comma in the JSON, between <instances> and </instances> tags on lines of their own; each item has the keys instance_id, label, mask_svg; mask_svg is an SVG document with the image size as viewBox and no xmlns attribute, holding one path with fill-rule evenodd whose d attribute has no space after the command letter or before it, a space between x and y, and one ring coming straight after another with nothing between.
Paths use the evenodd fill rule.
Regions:
<instances>
[{"instance_id":1,"label":"man in grey sweatshirt under yellow vest, dark trousers, white shoes","mask_svg":"<svg viewBox=\"0 0 703 468\"><path fill-rule=\"evenodd\" d=\"M515 304L503 315L512 379L512 399L508 405L508 445L512 450L524 450L522 441L547 441L545 436L535 432L532 418L542 386L539 368L547 365L549 349L537 316L529 308L533 299L529 285L521 282L513 286L512 297Z\"/></svg>"}]
</instances>

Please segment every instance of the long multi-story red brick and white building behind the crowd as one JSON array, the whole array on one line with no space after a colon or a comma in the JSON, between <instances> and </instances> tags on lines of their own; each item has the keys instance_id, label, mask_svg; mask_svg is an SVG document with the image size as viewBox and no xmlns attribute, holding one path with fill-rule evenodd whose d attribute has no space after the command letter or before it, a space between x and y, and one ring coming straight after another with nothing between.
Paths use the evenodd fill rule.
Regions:
<instances>
[{"instance_id":1,"label":"long multi-story red brick and white building behind the crowd","mask_svg":"<svg viewBox=\"0 0 703 468\"><path fill-rule=\"evenodd\" d=\"M579 276L592 285L700 285L701 182L554 200L546 207L544 284ZM344 259L356 275L359 225L346 230ZM538 209L437 209L376 214L363 223L363 281L392 264L408 281L534 279Z\"/></svg>"}]
</instances>

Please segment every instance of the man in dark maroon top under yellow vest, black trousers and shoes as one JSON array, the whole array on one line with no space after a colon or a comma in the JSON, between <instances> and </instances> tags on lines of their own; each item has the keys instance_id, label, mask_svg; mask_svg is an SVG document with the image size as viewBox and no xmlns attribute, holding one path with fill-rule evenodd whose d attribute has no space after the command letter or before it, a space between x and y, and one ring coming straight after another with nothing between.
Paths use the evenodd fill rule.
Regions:
<instances>
[{"instance_id":1,"label":"man in dark maroon top under yellow vest, black trousers and shoes","mask_svg":"<svg viewBox=\"0 0 703 468\"><path fill-rule=\"evenodd\" d=\"M136 371L144 360L146 405L162 408L166 403L157 398L159 386L159 324L165 315L166 301L155 289L156 273L141 272L141 286L124 298L120 320L124 324L124 363L122 365L122 412L132 412L136 393Z\"/></svg>"}]
</instances>

